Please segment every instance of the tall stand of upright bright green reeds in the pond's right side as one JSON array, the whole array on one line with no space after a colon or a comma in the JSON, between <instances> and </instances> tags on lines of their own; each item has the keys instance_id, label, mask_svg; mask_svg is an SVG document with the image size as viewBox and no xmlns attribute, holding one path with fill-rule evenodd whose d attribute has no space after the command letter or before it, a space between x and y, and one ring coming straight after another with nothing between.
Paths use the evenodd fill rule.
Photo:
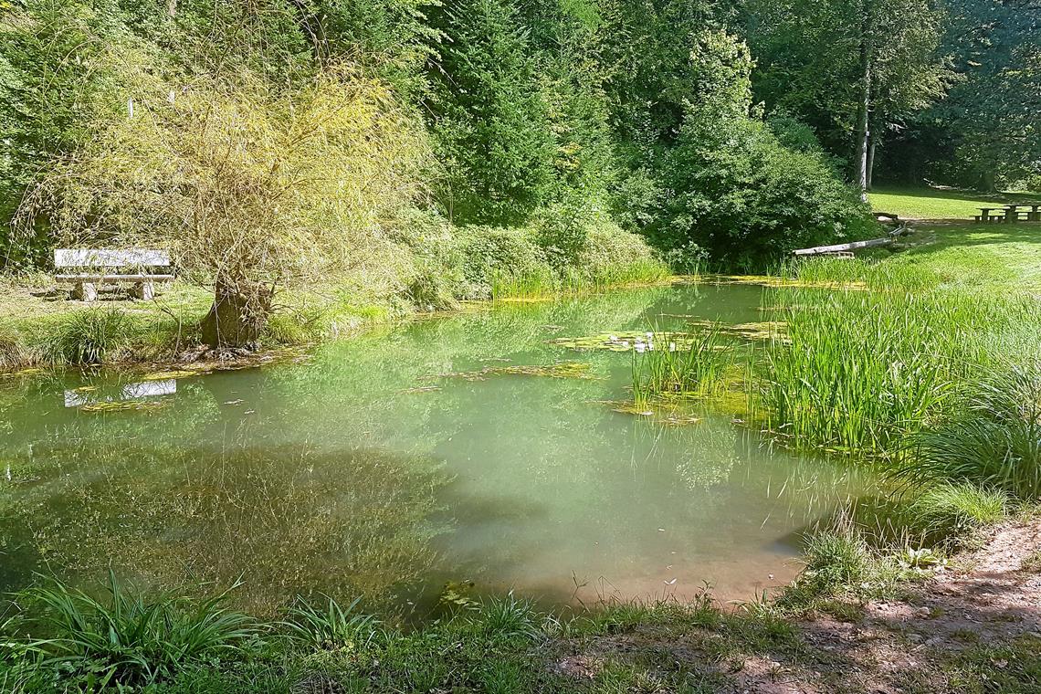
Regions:
<instances>
[{"instance_id":1,"label":"tall stand of upright bright green reeds in the pond's right side","mask_svg":"<svg viewBox=\"0 0 1041 694\"><path fill-rule=\"evenodd\" d=\"M854 455L895 453L992 359L987 336L1030 313L1014 301L935 292L804 290L781 304L787 338L765 351L765 423L795 446Z\"/></svg>"}]
</instances>

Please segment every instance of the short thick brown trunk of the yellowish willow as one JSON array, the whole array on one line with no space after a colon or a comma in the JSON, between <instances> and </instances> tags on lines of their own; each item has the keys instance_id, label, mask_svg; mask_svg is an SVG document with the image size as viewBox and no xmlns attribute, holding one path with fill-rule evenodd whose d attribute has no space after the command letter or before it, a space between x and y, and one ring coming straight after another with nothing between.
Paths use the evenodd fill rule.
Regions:
<instances>
[{"instance_id":1,"label":"short thick brown trunk of the yellowish willow","mask_svg":"<svg viewBox=\"0 0 1041 694\"><path fill-rule=\"evenodd\" d=\"M213 349L256 350L271 314L270 285L239 280L217 281L213 305L202 319L202 341Z\"/></svg>"}]
</instances>

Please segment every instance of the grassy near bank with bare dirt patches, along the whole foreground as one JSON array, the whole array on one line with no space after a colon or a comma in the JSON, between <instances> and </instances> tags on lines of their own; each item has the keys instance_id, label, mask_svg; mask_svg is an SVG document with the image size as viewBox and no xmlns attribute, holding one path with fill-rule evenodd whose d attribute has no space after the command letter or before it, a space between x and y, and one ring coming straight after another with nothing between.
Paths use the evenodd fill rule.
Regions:
<instances>
[{"instance_id":1,"label":"grassy near bank with bare dirt patches, along the whole foreground","mask_svg":"<svg viewBox=\"0 0 1041 694\"><path fill-rule=\"evenodd\" d=\"M1038 522L1036 510L1021 513ZM1022 547L1015 566L1041 570L1030 563L1038 554ZM780 680L817 688L811 691L870 692L881 672L908 692L1037 691L1041 640L1029 624L1020 629L1027 633L982 642L954 628L963 646L930 648L922 653L928 667L911 661L883 668L852 650L863 641L846 635L874 623L874 606L921 612L915 606L929 594L931 575L951 574L940 554L881 551L840 521L808 540L805 562L777 599L720 606L705 593L682 605L549 613L510 594L454 600L418 626L328 598L298 601L261 621L228 609L227 593L145 597L115 577L82 593L41 579L0 613L0 685L15 693L609 694L772 691ZM981 629L997 619L968 609L967 619L986 622ZM926 612L919 623L905 619L872 633L867 643L903 648L920 642L918 629L950 628L942 609ZM837 634L828 636L828 628ZM843 663L855 663L855 673Z\"/></svg>"}]
</instances>

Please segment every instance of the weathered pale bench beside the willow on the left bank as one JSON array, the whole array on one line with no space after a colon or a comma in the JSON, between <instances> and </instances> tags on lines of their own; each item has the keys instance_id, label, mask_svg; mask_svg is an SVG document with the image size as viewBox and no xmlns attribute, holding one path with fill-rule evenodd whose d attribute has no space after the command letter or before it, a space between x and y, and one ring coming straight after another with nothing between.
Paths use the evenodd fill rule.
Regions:
<instances>
[{"instance_id":1,"label":"weathered pale bench beside the willow on the left bank","mask_svg":"<svg viewBox=\"0 0 1041 694\"><path fill-rule=\"evenodd\" d=\"M95 301L98 284L130 282L131 295L135 299L152 299L156 282L171 282L173 275L149 272L153 267L169 267L170 254L166 251L130 249L109 251L103 249L57 249L54 251L57 282L73 284L73 298L80 301Z\"/></svg>"}]
</instances>

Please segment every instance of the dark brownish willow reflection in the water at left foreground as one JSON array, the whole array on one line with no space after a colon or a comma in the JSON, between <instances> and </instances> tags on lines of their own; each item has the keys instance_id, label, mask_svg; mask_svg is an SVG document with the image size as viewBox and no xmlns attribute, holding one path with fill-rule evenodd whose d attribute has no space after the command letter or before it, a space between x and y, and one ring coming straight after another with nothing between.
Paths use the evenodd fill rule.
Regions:
<instances>
[{"instance_id":1,"label":"dark brownish willow reflection in the water at left foreground","mask_svg":"<svg viewBox=\"0 0 1041 694\"><path fill-rule=\"evenodd\" d=\"M37 570L93 576L111 562L158 586L227 586L242 575L238 600L258 614L314 591L386 605L430 569L429 541L446 530L428 520L440 466L385 451L214 457L78 445L39 455L52 474L4 514L5 525L25 530L12 548L36 557Z\"/></svg>"}]
</instances>

